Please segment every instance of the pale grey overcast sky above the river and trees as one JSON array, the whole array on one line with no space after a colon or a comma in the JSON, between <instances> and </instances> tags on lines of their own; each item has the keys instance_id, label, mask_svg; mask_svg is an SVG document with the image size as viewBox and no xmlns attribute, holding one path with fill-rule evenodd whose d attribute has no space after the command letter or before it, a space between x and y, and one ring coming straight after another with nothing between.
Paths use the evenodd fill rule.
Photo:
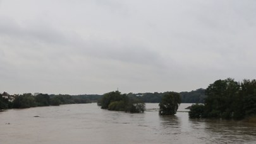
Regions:
<instances>
[{"instance_id":1,"label":"pale grey overcast sky above the river and trees","mask_svg":"<svg viewBox=\"0 0 256 144\"><path fill-rule=\"evenodd\" d=\"M254 0L0 0L0 92L103 94L255 79Z\"/></svg>"}]
</instances>

